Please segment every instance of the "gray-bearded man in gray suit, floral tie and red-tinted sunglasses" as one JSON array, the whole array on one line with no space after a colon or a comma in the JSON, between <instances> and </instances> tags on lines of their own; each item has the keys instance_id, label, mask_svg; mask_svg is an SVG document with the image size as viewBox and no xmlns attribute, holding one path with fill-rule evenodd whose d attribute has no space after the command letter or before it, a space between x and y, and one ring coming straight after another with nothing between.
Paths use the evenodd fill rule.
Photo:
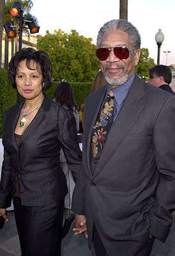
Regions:
<instances>
[{"instance_id":1,"label":"gray-bearded man in gray suit, floral tie and red-tinted sunglasses","mask_svg":"<svg viewBox=\"0 0 175 256\"><path fill-rule=\"evenodd\" d=\"M148 256L172 225L175 98L134 74L140 45L137 29L121 19L97 37L107 84L86 99L83 171L72 202L75 234L87 225L96 256Z\"/></svg>"}]
</instances>

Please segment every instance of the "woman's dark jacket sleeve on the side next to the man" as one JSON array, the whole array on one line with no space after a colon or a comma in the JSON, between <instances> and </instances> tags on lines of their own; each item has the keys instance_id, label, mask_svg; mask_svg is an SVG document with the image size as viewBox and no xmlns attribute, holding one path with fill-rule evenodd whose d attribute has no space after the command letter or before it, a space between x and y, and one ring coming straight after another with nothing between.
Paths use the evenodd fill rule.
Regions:
<instances>
[{"instance_id":1,"label":"woman's dark jacket sleeve on the side next to the man","mask_svg":"<svg viewBox=\"0 0 175 256\"><path fill-rule=\"evenodd\" d=\"M73 179L76 181L81 169L82 152L77 140L75 117L68 110L64 114L59 125L59 140L68 166L72 170Z\"/></svg>"}]
</instances>

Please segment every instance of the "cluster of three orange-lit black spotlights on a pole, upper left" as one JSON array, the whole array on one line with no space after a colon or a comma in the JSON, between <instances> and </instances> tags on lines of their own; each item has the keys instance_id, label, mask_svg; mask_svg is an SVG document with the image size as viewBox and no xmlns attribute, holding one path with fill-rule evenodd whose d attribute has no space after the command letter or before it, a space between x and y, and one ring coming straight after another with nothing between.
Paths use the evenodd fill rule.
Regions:
<instances>
[{"instance_id":1,"label":"cluster of three orange-lit black spotlights on a pole, upper left","mask_svg":"<svg viewBox=\"0 0 175 256\"><path fill-rule=\"evenodd\" d=\"M11 22L6 22L4 24L4 29L6 31L6 34L8 38L14 38L17 36L17 33L19 34L19 51L22 49L22 31L23 31L23 25L25 24L25 28L30 29L30 33L38 33L40 30L40 27L36 25L36 22L33 18L28 18L27 20L24 19L24 10L22 10L22 6L19 2L15 2L12 4L9 13L12 17L19 19L19 25L13 26ZM14 28L18 27L19 31L16 31ZM20 102L20 94L17 92L17 103Z\"/></svg>"}]
</instances>

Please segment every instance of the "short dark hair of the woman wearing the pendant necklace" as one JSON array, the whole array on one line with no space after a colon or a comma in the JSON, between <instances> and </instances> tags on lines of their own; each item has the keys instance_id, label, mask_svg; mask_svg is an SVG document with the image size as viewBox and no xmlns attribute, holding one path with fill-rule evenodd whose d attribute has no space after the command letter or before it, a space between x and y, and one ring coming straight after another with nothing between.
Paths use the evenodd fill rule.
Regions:
<instances>
[{"instance_id":1,"label":"short dark hair of the woman wearing the pendant necklace","mask_svg":"<svg viewBox=\"0 0 175 256\"><path fill-rule=\"evenodd\" d=\"M20 61L26 60L27 68L31 69L30 61L36 63L36 69L39 72L42 70L42 84L43 91L47 90L51 86L52 82L52 64L50 63L49 56L44 51L36 51L33 48L23 48L22 50L15 53L11 58L8 65L8 79L10 80L12 86L17 89L17 84L15 82L15 77L17 74L17 69L19 67Z\"/></svg>"}]
</instances>

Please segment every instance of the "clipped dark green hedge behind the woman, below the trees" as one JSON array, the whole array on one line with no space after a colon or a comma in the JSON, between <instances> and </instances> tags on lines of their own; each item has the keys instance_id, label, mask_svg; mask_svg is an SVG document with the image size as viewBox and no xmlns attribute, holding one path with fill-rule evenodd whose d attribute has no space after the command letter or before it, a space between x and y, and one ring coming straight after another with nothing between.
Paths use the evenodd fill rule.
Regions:
<instances>
[{"instance_id":1,"label":"clipped dark green hedge behind the woman, below the trees","mask_svg":"<svg viewBox=\"0 0 175 256\"><path fill-rule=\"evenodd\" d=\"M45 94L53 99L54 91L60 82L53 81L52 87L50 87ZM73 88L73 93L75 95L75 102L80 106L82 102L89 95L92 83L70 83ZM10 82L8 81L7 71L4 68L0 68L0 138L3 134L3 124L4 124L4 113L6 109L17 103L17 91L12 88Z\"/></svg>"}]
</instances>

